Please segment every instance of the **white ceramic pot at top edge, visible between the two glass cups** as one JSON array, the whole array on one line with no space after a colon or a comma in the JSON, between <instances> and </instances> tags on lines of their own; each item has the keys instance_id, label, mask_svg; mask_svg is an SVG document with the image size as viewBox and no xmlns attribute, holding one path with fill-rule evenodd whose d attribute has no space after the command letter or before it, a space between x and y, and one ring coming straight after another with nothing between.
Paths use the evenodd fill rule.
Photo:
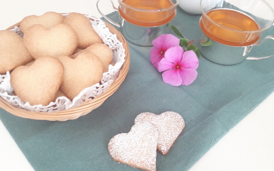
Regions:
<instances>
[{"instance_id":1,"label":"white ceramic pot at top edge, visible between the two glass cups","mask_svg":"<svg viewBox=\"0 0 274 171\"><path fill-rule=\"evenodd\" d=\"M201 14L200 2L201 0L181 0L179 7L189 14L198 15Z\"/></svg>"}]
</instances>

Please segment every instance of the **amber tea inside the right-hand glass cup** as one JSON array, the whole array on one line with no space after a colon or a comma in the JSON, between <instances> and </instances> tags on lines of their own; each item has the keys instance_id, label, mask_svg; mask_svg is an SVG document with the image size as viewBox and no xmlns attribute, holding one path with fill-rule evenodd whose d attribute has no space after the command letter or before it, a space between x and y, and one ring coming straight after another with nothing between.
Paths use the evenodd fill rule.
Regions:
<instances>
[{"instance_id":1,"label":"amber tea inside the right-hand glass cup","mask_svg":"<svg viewBox=\"0 0 274 171\"><path fill-rule=\"evenodd\" d=\"M216 42L230 46L248 46L260 38L259 25L249 15L234 9L213 9L200 20L201 30ZM253 32L250 34L250 32ZM254 33L255 32L255 33Z\"/></svg>"}]
</instances>

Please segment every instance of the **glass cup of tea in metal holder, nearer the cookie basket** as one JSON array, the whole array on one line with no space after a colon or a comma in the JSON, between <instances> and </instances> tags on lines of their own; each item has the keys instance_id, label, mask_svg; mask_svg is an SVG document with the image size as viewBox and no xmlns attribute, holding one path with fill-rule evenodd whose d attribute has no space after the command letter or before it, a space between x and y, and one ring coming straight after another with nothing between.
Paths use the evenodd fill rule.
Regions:
<instances>
[{"instance_id":1,"label":"glass cup of tea in metal holder, nearer the cookie basket","mask_svg":"<svg viewBox=\"0 0 274 171\"><path fill-rule=\"evenodd\" d=\"M152 41L161 34L169 33L166 24L176 15L176 7L181 0L117 0L119 7L112 6L119 14L119 22L99 13L111 24L121 28L124 37L140 46L152 46Z\"/></svg>"}]
</instances>

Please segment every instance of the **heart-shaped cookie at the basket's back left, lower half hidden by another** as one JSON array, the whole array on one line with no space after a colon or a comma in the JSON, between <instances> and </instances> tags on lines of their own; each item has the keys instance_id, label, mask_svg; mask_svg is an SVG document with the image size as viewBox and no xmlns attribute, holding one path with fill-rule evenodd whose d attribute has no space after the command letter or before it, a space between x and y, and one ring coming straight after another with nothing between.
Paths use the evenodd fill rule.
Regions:
<instances>
[{"instance_id":1,"label":"heart-shaped cookie at the basket's back left, lower half hidden by another","mask_svg":"<svg viewBox=\"0 0 274 171\"><path fill-rule=\"evenodd\" d=\"M46 29L50 29L51 27L62 24L65 17L62 14L56 12L46 12L43 15L29 15L23 18L20 22L20 30L22 33L25 33L26 29L34 24L41 24Z\"/></svg>"}]
</instances>

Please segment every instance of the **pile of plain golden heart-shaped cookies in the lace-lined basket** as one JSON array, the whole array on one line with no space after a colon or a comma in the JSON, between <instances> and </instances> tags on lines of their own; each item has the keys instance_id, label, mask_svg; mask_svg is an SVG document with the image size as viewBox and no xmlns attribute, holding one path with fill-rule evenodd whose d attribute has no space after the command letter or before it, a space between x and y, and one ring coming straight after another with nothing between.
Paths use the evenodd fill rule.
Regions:
<instances>
[{"instance_id":1,"label":"pile of plain golden heart-shaped cookies in the lace-lined basket","mask_svg":"<svg viewBox=\"0 0 274 171\"><path fill-rule=\"evenodd\" d=\"M11 72L11 86L24 103L46 106L59 96L73 100L100 83L112 64L112 50L82 14L30 15L20 30L24 38L0 31L0 73Z\"/></svg>"}]
</instances>

